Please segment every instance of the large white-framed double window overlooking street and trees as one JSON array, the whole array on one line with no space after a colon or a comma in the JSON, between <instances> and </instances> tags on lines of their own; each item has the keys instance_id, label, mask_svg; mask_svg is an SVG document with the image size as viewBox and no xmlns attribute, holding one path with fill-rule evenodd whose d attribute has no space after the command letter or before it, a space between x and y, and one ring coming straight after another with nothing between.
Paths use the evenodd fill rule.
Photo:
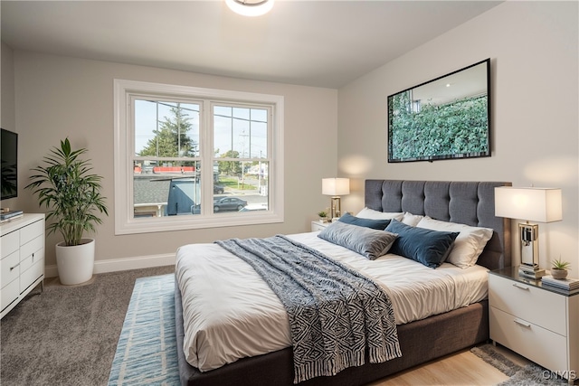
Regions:
<instances>
[{"instance_id":1,"label":"large white-framed double window overlooking street and trees","mask_svg":"<svg viewBox=\"0 0 579 386\"><path fill-rule=\"evenodd\" d=\"M283 97L114 86L116 234L283 221Z\"/></svg>"}]
</instances>

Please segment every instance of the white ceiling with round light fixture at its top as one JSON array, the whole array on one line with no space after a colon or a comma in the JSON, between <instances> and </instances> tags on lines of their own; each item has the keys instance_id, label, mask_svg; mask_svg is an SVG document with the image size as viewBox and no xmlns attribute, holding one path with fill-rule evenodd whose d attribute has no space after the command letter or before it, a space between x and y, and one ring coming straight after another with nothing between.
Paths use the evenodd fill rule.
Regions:
<instances>
[{"instance_id":1,"label":"white ceiling with round light fixture at its top","mask_svg":"<svg viewBox=\"0 0 579 386\"><path fill-rule=\"evenodd\" d=\"M500 1L5 1L13 49L338 89Z\"/></svg>"}]
</instances>

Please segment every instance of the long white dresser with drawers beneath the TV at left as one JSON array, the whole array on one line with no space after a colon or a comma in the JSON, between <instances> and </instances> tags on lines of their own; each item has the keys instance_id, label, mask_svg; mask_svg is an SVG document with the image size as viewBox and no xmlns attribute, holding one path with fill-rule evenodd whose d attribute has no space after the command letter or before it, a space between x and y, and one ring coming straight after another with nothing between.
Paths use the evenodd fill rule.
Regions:
<instances>
[{"instance_id":1,"label":"long white dresser with drawers beneath the TV at left","mask_svg":"<svg viewBox=\"0 0 579 386\"><path fill-rule=\"evenodd\" d=\"M44 214L0 224L0 318L44 279Z\"/></svg>"}]
</instances>

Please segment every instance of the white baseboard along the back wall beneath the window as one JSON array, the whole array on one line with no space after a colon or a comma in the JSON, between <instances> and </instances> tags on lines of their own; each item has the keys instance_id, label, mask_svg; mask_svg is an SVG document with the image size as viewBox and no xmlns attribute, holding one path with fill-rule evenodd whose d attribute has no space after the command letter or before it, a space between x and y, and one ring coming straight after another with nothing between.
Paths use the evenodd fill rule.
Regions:
<instances>
[{"instance_id":1,"label":"white baseboard along the back wall beneath the window","mask_svg":"<svg viewBox=\"0 0 579 386\"><path fill-rule=\"evenodd\" d=\"M94 262L94 273L117 272L128 269L152 268L175 265L175 253L166 255L142 256L125 259L97 260ZM55 265L44 268L45 278L56 278L58 268Z\"/></svg>"}]
</instances>

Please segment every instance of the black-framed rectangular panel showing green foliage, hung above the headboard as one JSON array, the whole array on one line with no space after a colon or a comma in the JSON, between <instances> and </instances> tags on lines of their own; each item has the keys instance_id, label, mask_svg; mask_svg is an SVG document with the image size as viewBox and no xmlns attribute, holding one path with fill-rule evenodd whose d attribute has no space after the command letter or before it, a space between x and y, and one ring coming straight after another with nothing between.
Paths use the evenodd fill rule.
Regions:
<instances>
[{"instance_id":1,"label":"black-framed rectangular panel showing green foliage, hung above the headboard","mask_svg":"<svg viewBox=\"0 0 579 386\"><path fill-rule=\"evenodd\" d=\"M490 59L388 96L388 162L490 156Z\"/></svg>"}]
</instances>

